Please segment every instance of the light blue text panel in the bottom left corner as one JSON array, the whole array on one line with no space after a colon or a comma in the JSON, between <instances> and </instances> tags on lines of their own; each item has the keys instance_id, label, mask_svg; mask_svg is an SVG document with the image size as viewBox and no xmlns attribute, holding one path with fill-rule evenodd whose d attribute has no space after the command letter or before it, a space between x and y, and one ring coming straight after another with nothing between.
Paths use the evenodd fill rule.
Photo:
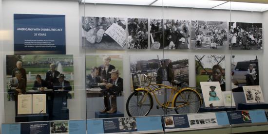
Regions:
<instances>
[{"instance_id":1,"label":"light blue text panel in the bottom left corner","mask_svg":"<svg viewBox=\"0 0 268 134\"><path fill-rule=\"evenodd\" d=\"M20 124L2 124L1 134L20 134Z\"/></svg>"}]
</instances>

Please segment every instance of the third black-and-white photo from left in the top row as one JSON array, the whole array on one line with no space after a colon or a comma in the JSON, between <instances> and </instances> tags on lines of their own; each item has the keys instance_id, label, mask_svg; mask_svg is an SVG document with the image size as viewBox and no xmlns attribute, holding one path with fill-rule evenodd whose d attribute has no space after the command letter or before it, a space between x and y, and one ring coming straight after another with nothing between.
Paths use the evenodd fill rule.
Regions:
<instances>
[{"instance_id":1,"label":"third black-and-white photo from left in the top row","mask_svg":"<svg viewBox=\"0 0 268 134\"><path fill-rule=\"evenodd\" d=\"M160 20L151 19L151 49L175 50L190 48L189 20L163 19L163 24L160 23ZM162 27L160 27L161 24ZM163 35L162 30L164 31Z\"/></svg>"}]
</instances>

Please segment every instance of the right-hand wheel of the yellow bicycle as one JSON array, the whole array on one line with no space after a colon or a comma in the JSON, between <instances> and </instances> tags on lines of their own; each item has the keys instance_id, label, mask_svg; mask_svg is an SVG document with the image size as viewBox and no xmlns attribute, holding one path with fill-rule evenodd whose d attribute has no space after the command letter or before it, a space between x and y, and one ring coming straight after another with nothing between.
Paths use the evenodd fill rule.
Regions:
<instances>
[{"instance_id":1,"label":"right-hand wheel of the yellow bicycle","mask_svg":"<svg viewBox=\"0 0 268 134\"><path fill-rule=\"evenodd\" d=\"M175 96L174 107L177 114L197 113L201 105L201 98L197 92L191 89L182 89Z\"/></svg>"}]
</instances>

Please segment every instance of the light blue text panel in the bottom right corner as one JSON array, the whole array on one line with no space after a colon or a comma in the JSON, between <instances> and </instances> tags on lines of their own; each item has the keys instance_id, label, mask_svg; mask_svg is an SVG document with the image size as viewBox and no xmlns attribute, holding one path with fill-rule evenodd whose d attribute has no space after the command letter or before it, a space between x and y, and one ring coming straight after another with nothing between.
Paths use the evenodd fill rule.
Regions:
<instances>
[{"instance_id":1,"label":"light blue text panel in the bottom right corner","mask_svg":"<svg viewBox=\"0 0 268 134\"><path fill-rule=\"evenodd\" d=\"M252 123L267 122L264 110L250 110L249 115Z\"/></svg>"}]
</instances>

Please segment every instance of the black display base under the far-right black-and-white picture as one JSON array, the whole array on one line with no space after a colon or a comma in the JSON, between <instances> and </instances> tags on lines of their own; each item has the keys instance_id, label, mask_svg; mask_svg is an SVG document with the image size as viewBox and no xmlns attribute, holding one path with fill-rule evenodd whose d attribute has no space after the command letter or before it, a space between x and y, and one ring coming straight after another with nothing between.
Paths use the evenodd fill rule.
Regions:
<instances>
[{"instance_id":1,"label":"black display base under the far-right black-and-white picture","mask_svg":"<svg viewBox=\"0 0 268 134\"><path fill-rule=\"evenodd\" d=\"M238 103L238 110L268 109L268 103Z\"/></svg>"}]
</instances>

